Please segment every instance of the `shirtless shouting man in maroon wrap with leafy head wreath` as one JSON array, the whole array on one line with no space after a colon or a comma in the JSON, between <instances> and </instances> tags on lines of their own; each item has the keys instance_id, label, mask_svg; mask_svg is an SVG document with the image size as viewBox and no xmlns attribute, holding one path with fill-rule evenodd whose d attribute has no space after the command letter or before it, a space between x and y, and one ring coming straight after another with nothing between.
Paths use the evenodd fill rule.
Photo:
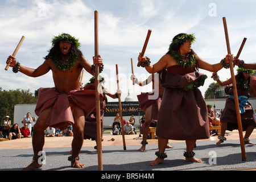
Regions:
<instances>
[{"instance_id":1,"label":"shirtless shouting man in maroon wrap with leafy head wreath","mask_svg":"<svg viewBox=\"0 0 256 182\"><path fill-rule=\"evenodd\" d=\"M82 69L94 75L94 65L82 55L79 50L79 40L69 34L55 36L52 48L45 57L45 61L38 68L27 68L20 65L14 56L9 56L6 64L13 67L13 72L22 72L30 77L39 77L52 71L55 88L40 88L38 104L35 113L39 116L34 126L32 145L34 158L32 163L23 170L42 167L40 151L44 146L44 130L48 126L64 130L73 125L74 139L72 142L72 156L68 158L71 166L83 168L79 162L79 154L84 141L85 117L96 107L95 90L80 88ZM103 68L101 56L93 57L93 63ZM101 100L103 94L101 94Z\"/></svg>"}]
</instances>

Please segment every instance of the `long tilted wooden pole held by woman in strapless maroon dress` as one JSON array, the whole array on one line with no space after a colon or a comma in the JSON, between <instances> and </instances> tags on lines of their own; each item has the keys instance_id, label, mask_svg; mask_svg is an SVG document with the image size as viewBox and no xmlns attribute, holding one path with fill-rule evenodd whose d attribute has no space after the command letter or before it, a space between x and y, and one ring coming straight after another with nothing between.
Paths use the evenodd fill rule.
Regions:
<instances>
[{"instance_id":1,"label":"long tilted wooden pole held by woman in strapless maroon dress","mask_svg":"<svg viewBox=\"0 0 256 182\"><path fill-rule=\"evenodd\" d=\"M226 37L226 45L227 45L227 48L228 48L228 54L231 54L230 44L229 44L228 27L226 25L226 18L225 17L223 17L223 23L224 23L224 30L225 30L225 37ZM239 109L237 84L236 84L236 77L234 76L233 62L229 61L229 65L230 65L230 72L231 72L232 84L233 84L234 102L235 102L235 105L236 105L237 124L238 124L238 131L239 131L241 151L242 151L242 161L246 161L247 159L246 159L246 153L245 153L245 143L244 143L244 140L243 140L242 121L241 121L241 115L240 115L240 109Z\"/></svg>"}]
</instances>

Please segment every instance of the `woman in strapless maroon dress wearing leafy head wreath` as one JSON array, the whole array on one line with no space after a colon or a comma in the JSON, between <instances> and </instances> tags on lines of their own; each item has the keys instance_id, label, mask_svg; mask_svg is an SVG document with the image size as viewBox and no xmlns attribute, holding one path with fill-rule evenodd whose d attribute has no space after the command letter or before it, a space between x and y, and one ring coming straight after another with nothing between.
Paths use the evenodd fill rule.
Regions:
<instances>
[{"instance_id":1,"label":"woman in strapless maroon dress wearing leafy head wreath","mask_svg":"<svg viewBox=\"0 0 256 182\"><path fill-rule=\"evenodd\" d=\"M159 151L156 152L157 158L150 163L151 166L163 163L164 158L167 158L164 152L168 139L185 140L185 160L200 163L201 159L195 158L193 152L196 140L210 137L207 105L198 89L204 85L207 76L197 71L201 68L217 72L223 67L227 68L228 60L233 61L233 55L226 55L226 60L221 63L209 64L191 49L193 42L193 34L176 35L169 51L154 65L150 65L148 57L138 57L148 73L163 72L164 94L156 127Z\"/></svg>"}]
</instances>

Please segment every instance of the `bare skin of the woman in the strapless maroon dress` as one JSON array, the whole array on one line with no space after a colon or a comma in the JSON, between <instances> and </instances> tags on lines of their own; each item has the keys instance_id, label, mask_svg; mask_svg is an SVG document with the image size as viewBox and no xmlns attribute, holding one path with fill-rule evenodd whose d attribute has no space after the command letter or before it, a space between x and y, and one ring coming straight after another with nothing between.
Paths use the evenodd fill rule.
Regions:
<instances>
[{"instance_id":1,"label":"bare skin of the woman in the strapless maroon dress","mask_svg":"<svg viewBox=\"0 0 256 182\"><path fill-rule=\"evenodd\" d=\"M187 55L189 52L191 52L192 44L190 40L186 40L183 44L181 44L178 53L180 55ZM184 60L188 60L184 59ZM234 61L233 55L226 55L226 63L229 63L229 61ZM139 54L138 61L146 61L146 57L141 57L141 53ZM198 57L198 63L199 63L199 68L200 69L205 69L209 72L217 72L220 69L222 69L222 65L220 63L218 64L209 64L200 57ZM174 65L177 65L177 61L172 57L170 54L164 55L156 64L154 65L149 65L146 67L146 71L148 73L156 73L161 71L164 68L169 68ZM186 145L187 145L187 152L192 152L193 148L195 146L196 140L186 140ZM164 154L164 151L166 149L166 144L168 143L168 139L165 138L158 138L158 147L159 147L159 152ZM185 158L186 161L188 162L195 162L195 163L201 163L201 159L197 159L195 157L192 158ZM160 159L159 157L154 160L154 162L150 163L150 166L156 166L160 163L163 163L164 159Z\"/></svg>"}]
</instances>

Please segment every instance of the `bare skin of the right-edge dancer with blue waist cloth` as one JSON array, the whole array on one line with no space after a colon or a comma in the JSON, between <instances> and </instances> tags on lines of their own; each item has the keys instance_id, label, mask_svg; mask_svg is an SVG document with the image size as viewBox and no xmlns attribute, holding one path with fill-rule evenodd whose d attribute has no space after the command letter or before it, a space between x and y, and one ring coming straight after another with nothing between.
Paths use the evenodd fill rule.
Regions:
<instances>
[{"instance_id":1,"label":"bare skin of the right-edge dancer with blue waist cloth","mask_svg":"<svg viewBox=\"0 0 256 182\"><path fill-rule=\"evenodd\" d=\"M213 73L212 74L213 77L217 78L217 73ZM248 80L248 78L250 77L250 73L247 73L247 72L243 72L243 76L245 77L245 82L246 80ZM236 80L237 81L237 80ZM229 78L228 80L226 81L221 81L221 80L217 80L217 83L220 85L220 86L225 86L225 85L230 85L232 84L232 78ZM253 88L250 89L251 93L253 94L253 96L255 97L256 96L256 92ZM228 122L223 122L221 123L221 136L224 137L225 133L226 133L226 129L228 127ZM245 137L244 138L249 138L251 133L253 132L254 130L254 126L248 126L247 129L246 129L246 132L245 132ZM223 140L218 140L218 142L216 143L217 145L220 145L221 143L223 143L224 141ZM251 142L245 142L245 144L253 144Z\"/></svg>"}]
</instances>

